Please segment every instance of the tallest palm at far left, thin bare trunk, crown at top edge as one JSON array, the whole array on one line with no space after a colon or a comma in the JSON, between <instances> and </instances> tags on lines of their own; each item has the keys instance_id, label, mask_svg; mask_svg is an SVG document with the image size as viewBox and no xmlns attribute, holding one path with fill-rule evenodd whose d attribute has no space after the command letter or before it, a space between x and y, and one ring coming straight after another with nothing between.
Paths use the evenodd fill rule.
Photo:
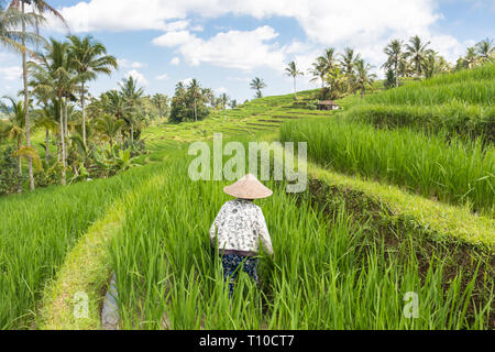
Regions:
<instances>
[{"instance_id":1,"label":"tallest palm at far left, thin bare trunk, crown at top edge","mask_svg":"<svg viewBox=\"0 0 495 352\"><path fill-rule=\"evenodd\" d=\"M38 33L40 25L44 22L43 20L43 13L50 12L54 14L56 18L61 19L65 25L66 22L62 14L52 8L46 1L44 0L12 0L10 3L10 8L14 8L24 15L25 14L25 4L29 4L32 7L33 12L40 15L37 20L35 21L35 32ZM21 20L21 45L25 48L26 46L26 26L28 22L25 21L25 18L22 16ZM31 147L31 131L30 131L30 109L29 109L29 90L28 90L28 61L26 61L26 51L23 50L21 52L22 54L22 79L24 84L24 119L25 119L25 140L28 147ZM33 176L33 162L31 158L28 160L29 162L29 173L30 173L30 189L34 189L34 176Z\"/></svg>"}]
</instances>

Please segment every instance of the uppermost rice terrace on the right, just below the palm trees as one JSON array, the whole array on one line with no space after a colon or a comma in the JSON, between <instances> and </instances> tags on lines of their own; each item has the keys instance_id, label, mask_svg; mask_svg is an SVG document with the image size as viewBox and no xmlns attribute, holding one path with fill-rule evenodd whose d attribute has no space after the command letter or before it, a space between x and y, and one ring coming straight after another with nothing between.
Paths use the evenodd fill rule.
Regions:
<instances>
[{"instance_id":1,"label":"uppermost rice terrace on the right, just below the palm trees","mask_svg":"<svg viewBox=\"0 0 495 352\"><path fill-rule=\"evenodd\" d=\"M447 131L495 142L495 63L407 82L354 101L350 117L381 127Z\"/></svg>"}]
</instances>

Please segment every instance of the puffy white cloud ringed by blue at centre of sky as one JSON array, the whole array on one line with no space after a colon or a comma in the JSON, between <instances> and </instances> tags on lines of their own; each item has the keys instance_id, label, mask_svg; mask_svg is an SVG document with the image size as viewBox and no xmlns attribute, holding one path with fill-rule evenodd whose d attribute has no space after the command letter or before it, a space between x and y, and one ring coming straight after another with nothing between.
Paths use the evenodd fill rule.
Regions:
<instances>
[{"instance_id":1,"label":"puffy white cloud ringed by blue at centre of sky","mask_svg":"<svg viewBox=\"0 0 495 352\"><path fill-rule=\"evenodd\" d=\"M267 66L280 69L284 53L271 42L277 37L268 25L253 31L229 31L202 40L188 31L168 32L153 40L153 44L177 47L184 59L194 66L209 63L217 66L251 70Z\"/></svg>"}]
</instances>

